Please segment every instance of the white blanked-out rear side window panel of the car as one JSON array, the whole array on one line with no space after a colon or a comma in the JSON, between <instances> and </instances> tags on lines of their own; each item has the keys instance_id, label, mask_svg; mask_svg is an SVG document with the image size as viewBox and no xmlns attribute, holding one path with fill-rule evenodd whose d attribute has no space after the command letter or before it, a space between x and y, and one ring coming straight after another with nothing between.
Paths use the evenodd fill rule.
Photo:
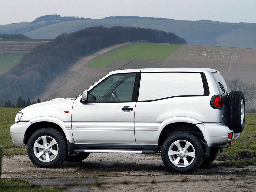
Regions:
<instances>
[{"instance_id":1,"label":"white blanked-out rear side window panel of the car","mask_svg":"<svg viewBox=\"0 0 256 192\"><path fill-rule=\"evenodd\" d=\"M142 73L138 101L204 94L200 73Z\"/></svg>"}]
</instances>

